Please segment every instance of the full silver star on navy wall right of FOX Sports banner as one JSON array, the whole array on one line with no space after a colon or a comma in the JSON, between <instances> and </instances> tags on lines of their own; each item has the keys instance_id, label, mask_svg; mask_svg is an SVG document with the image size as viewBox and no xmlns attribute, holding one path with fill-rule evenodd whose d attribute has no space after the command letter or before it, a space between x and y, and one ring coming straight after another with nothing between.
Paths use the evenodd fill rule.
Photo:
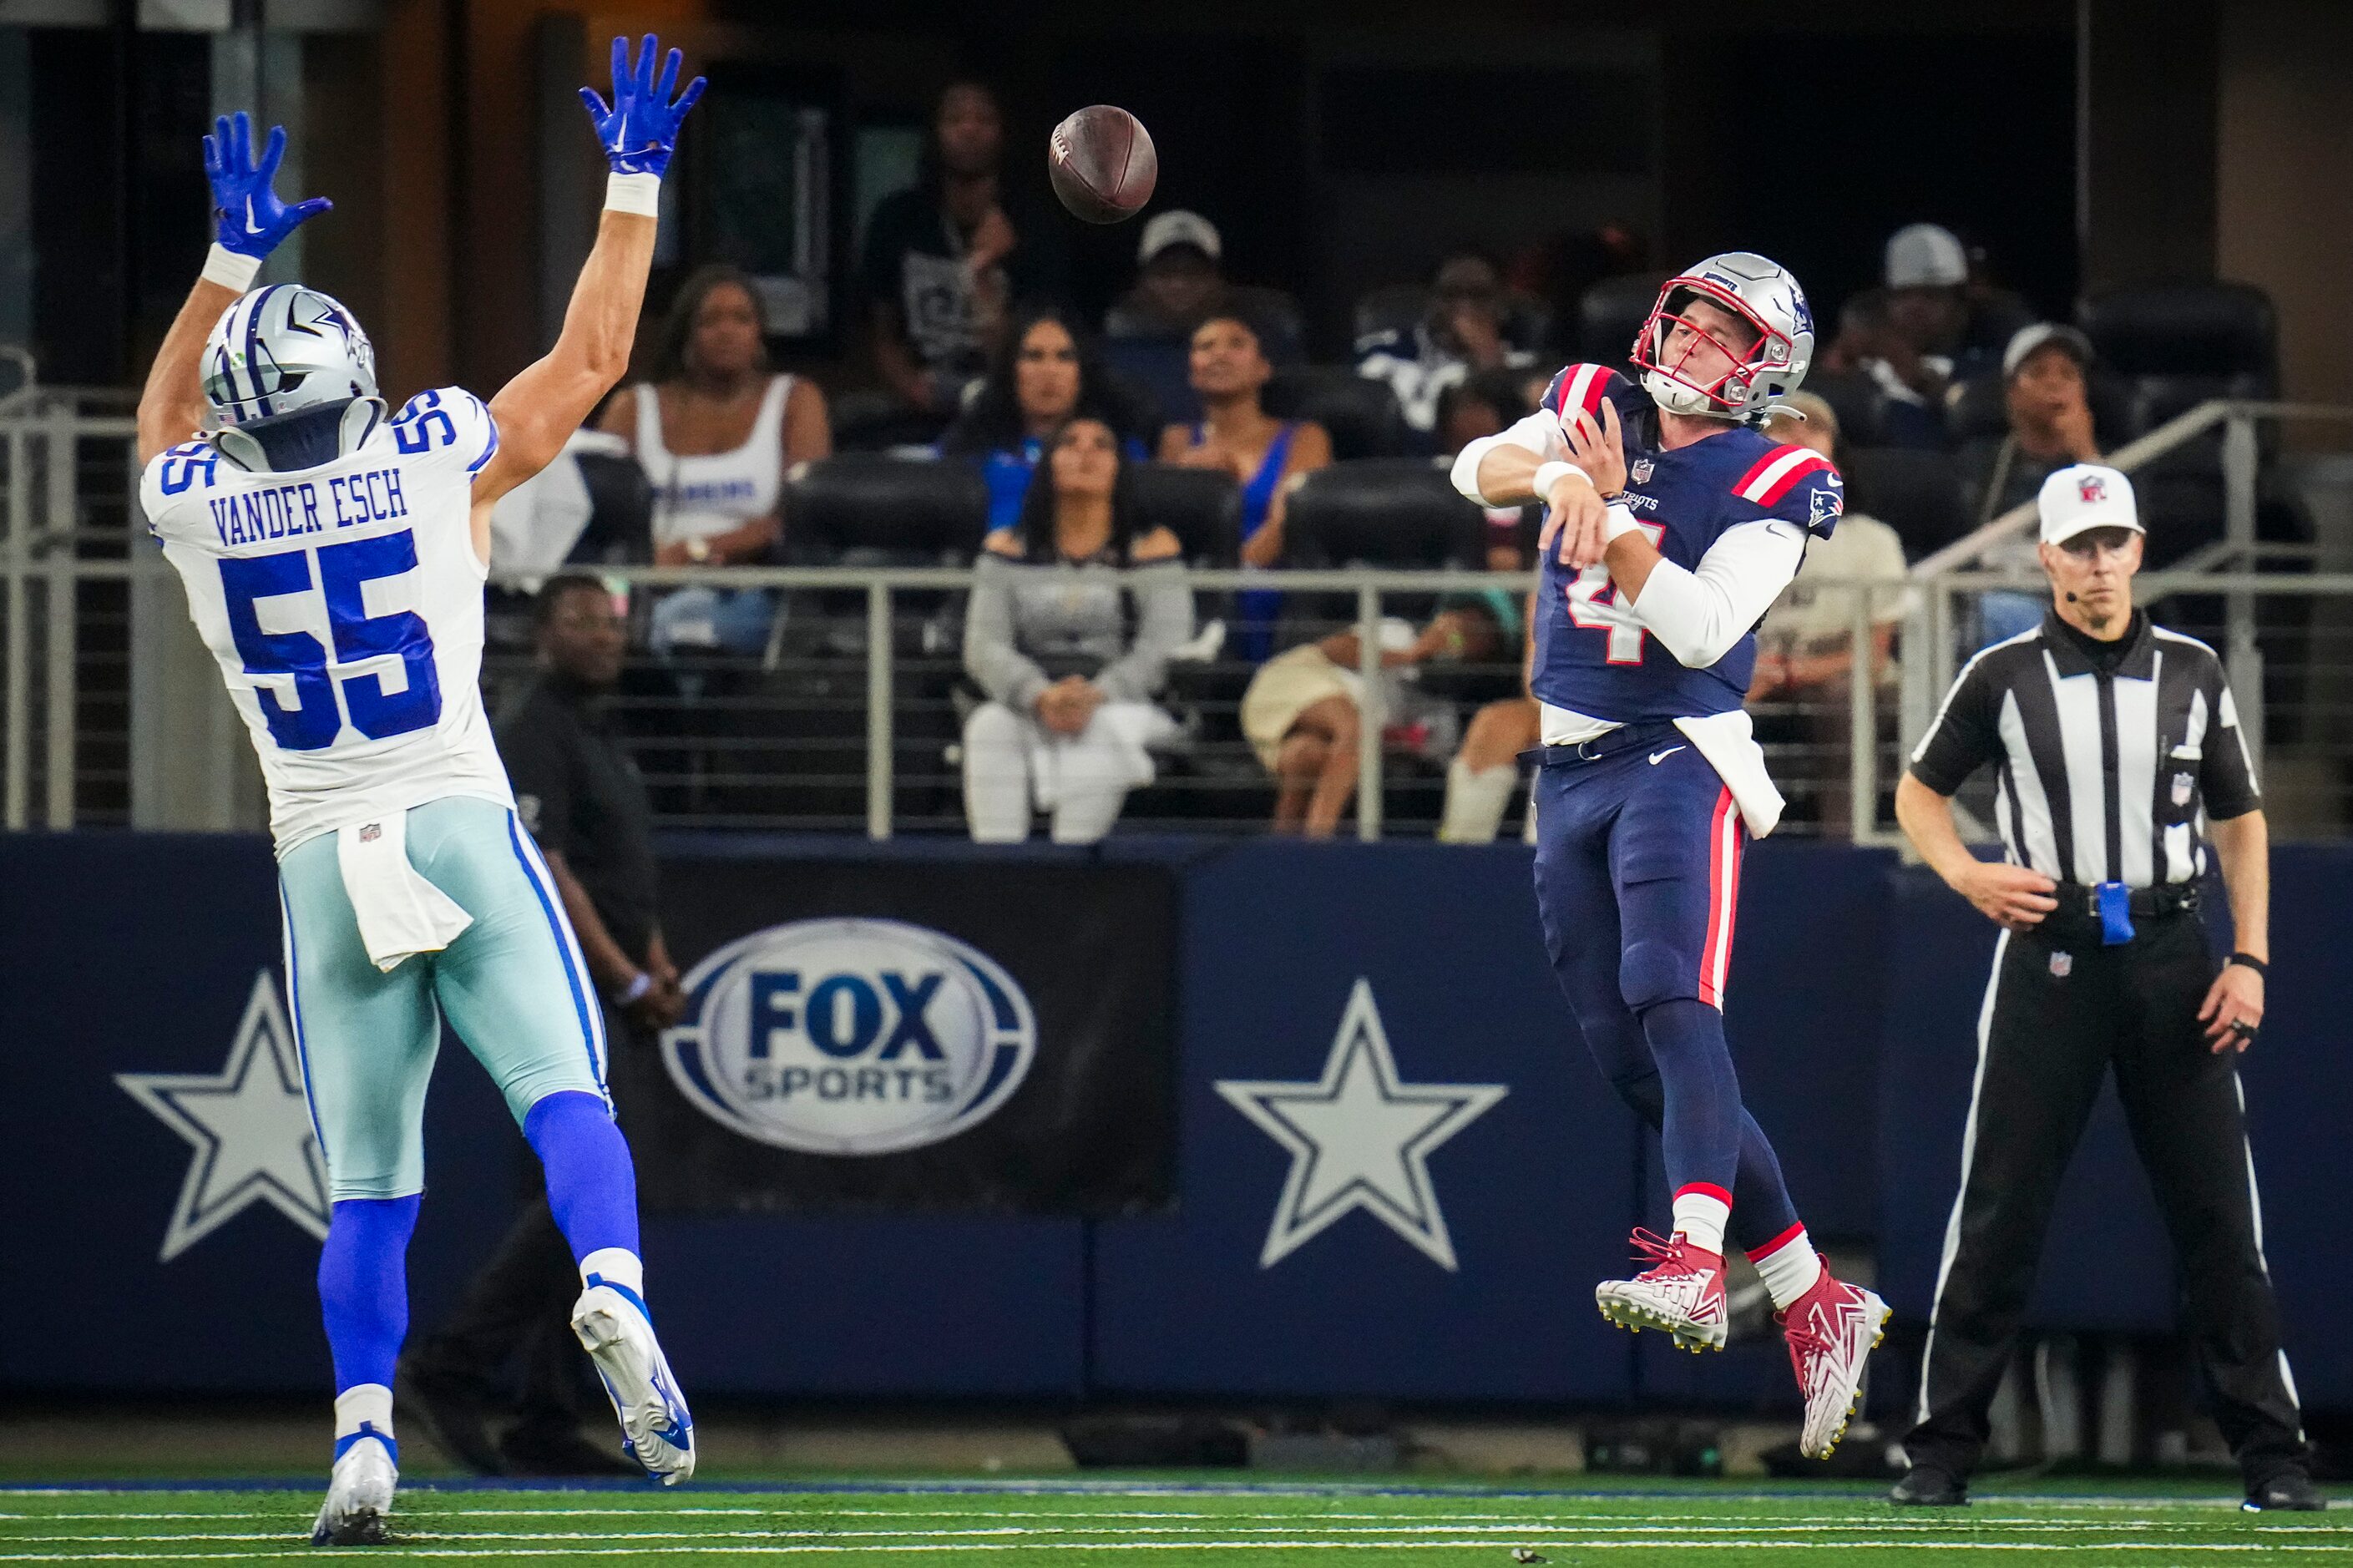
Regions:
<instances>
[{"instance_id":1,"label":"full silver star on navy wall right of FOX Sports banner","mask_svg":"<svg viewBox=\"0 0 2353 1568\"><path fill-rule=\"evenodd\" d=\"M1431 1151L1478 1121L1501 1083L1400 1083L1372 984L1355 982L1315 1083L1226 1078L1217 1092L1292 1156L1259 1267L1273 1269L1344 1215L1365 1210L1454 1269Z\"/></svg>"}]
</instances>

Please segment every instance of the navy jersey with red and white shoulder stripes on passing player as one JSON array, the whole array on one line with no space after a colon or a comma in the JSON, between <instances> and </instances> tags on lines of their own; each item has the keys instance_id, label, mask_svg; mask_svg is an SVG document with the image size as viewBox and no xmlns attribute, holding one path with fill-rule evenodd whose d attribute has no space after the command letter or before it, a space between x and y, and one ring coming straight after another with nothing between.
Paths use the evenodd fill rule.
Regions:
<instances>
[{"instance_id":1,"label":"navy jersey with red and white shoulder stripes on passing player","mask_svg":"<svg viewBox=\"0 0 2353 1568\"><path fill-rule=\"evenodd\" d=\"M1602 365L1569 365L1553 377L1544 410L1513 426L1513 438L1544 436L1544 454L1567 459L1553 421L1577 410L1600 417L1602 398L1617 405L1626 438L1626 506L1678 567L1697 572L1725 532L1748 523L1781 523L1819 539L1838 523L1845 487L1826 457L1751 426L1664 450L1657 405ZM1537 697L1612 723L1729 713L1755 673L1753 631L1715 664L1689 669L1619 603L1605 565L1574 572L1560 565L1558 549L1541 563L1534 636Z\"/></svg>"}]
</instances>

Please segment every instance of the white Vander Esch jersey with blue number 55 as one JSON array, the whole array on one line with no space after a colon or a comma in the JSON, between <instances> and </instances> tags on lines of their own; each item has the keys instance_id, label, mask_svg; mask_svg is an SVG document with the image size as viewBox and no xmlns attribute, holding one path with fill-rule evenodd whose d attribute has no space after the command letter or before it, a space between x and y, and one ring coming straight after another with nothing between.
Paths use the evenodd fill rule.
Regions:
<instances>
[{"instance_id":1,"label":"white Vander Esch jersey with blue number 55","mask_svg":"<svg viewBox=\"0 0 2353 1568\"><path fill-rule=\"evenodd\" d=\"M471 523L496 450L489 407L445 386L318 469L249 473L191 440L139 478L261 756L280 855L445 796L513 805L482 713Z\"/></svg>"}]
</instances>

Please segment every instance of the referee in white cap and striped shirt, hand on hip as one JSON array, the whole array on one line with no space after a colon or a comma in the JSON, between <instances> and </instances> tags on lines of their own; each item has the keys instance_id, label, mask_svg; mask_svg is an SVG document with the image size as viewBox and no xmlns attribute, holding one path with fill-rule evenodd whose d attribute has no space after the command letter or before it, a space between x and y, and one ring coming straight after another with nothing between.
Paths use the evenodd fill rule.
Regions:
<instances>
[{"instance_id":1,"label":"referee in white cap and striped shirt, hand on hip","mask_svg":"<svg viewBox=\"0 0 2353 1568\"><path fill-rule=\"evenodd\" d=\"M2040 509L2049 612L1969 659L1897 786L1920 857L2002 937L1894 1500L1969 1500L2059 1177L2113 1064L2247 1507L2318 1509L2238 1088L2271 951L2254 768L2214 650L2132 607L2132 483L2078 464ZM2007 850L1991 864L1953 831L1953 791L1981 765ZM2198 921L2209 845L2238 932L2219 972ZM2082 1241L2075 1267L2097 1269L2101 1238Z\"/></svg>"}]
</instances>

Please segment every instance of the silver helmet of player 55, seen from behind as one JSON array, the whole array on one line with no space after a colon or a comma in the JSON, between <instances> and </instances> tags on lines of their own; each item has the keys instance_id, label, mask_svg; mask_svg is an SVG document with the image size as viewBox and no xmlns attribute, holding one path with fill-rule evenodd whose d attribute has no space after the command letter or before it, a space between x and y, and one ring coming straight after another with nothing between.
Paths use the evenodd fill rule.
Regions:
<instances>
[{"instance_id":1,"label":"silver helmet of player 55, seen from behind","mask_svg":"<svg viewBox=\"0 0 2353 1568\"><path fill-rule=\"evenodd\" d=\"M334 461L384 419L367 332L299 283L273 283L228 306L205 339L202 367L219 419L212 440L245 469Z\"/></svg>"}]
</instances>

